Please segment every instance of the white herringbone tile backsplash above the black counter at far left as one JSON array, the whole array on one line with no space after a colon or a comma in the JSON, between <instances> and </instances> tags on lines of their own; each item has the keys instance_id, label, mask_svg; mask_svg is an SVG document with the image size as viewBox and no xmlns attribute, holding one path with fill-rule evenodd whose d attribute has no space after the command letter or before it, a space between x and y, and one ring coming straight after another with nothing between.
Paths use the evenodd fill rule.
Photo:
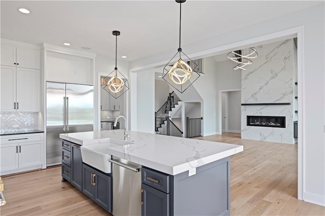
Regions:
<instances>
[{"instance_id":1,"label":"white herringbone tile backsplash above the black counter at far left","mask_svg":"<svg viewBox=\"0 0 325 216\"><path fill-rule=\"evenodd\" d=\"M38 129L38 113L0 113L0 121L1 131Z\"/></svg>"}]
</instances>

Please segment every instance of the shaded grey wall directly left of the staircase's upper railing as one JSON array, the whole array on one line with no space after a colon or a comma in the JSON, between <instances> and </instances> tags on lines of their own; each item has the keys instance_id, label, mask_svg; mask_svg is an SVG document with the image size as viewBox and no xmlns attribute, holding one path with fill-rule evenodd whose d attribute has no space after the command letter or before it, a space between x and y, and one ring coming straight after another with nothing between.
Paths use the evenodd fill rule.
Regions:
<instances>
[{"instance_id":1,"label":"shaded grey wall directly left of the staircase's upper railing","mask_svg":"<svg viewBox=\"0 0 325 216\"><path fill-rule=\"evenodd\" d=\"M167 101L170 87L165 80L155 80L154 89L154 110L158 111L158 109Z\"/></svg>"}]
</instances>

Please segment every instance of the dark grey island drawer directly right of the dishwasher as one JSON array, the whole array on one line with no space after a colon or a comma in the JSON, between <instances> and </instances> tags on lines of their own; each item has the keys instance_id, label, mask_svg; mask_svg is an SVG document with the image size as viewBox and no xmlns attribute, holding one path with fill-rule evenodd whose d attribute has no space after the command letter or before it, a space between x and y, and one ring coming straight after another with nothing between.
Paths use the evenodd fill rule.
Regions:
<instances>
[{"instance_id":1,"label":"dark grey island drawer directly right of the dishwasher","mask_svg":"<svg viewBox=\"0 0 325 216\"><path fill-rule=\"evenodd\" d=\"M166 173L142 167L141 180L146 185L169 193L169 175Z\"/></svg>"}]
</instances>

